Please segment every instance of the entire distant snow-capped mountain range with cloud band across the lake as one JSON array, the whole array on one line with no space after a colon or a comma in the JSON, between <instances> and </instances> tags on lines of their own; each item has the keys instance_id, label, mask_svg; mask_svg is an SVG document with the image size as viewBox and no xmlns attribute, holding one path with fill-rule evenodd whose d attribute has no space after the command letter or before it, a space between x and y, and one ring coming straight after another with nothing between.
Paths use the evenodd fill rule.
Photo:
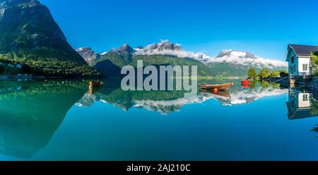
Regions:
<instances>
[{"instance_id":1,"label":"entire distant snow-capped mountain range with cloud band across the lake","mask_svg":"<svg viewBox=\"0 0 318 175\"><path fill-rule=\"evenodd\" d=\"M138 59L149 59L154 64L184 64L199 65L201 76L235 76L246 77L249 68L260 71L262 68L273 70L286 70L288 64L285 61L264 59L251 52L237 50L223 50L217 56L208 56L202 52L189 52L182 49L181 44L163 40L159 43L149 44L146 47L130 47L124 44L119 49L112 49L103 54L96 54L90 48L77 50L81 56L105 76L120 74L120 68ZM177 56L177 59L171 58ZM184 59L183 59L184 58ZM187 59L186 59L187 58ZM189 59L194 59L191 61ZM168 60L168 61L167 61ZM191 63L190 63L191 62ZM116 73L114 73L114 71Z\"/></svg>"}]
</instances>

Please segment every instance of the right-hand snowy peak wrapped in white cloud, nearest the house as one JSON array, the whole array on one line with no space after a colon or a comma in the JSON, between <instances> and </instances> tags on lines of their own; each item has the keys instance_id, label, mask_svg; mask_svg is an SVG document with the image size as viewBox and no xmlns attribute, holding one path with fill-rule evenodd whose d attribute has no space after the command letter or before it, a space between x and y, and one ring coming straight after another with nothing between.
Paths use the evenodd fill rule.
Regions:
<instances>
[{"instance_id":1,"label":"right-hand snowy peak wrapped in white cloud, nearest the house","mask_svg":"<svg viewBox=\"0 0 318 175\"><path fill-rule=\"evenodd\" d=\"M213 63L228 63L241 66L249 66L254 68L270 68L283 69L287 68L288 64L285 61L275 59L264 59L250 52L241 52L236 50L223 50L214 59L211 59L207 64Z\"/></svg>"}]
</instances>

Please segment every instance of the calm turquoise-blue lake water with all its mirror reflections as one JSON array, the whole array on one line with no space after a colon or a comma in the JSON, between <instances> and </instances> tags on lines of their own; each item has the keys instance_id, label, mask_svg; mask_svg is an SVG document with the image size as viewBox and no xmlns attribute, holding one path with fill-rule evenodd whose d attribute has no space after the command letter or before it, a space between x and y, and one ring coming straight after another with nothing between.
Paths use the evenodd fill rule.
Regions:
<instances>
[{"instance_id":1,"label":"calm turquoise-blue lake water with all its mirror reflections","mask_svg":"<svg viewBox=\"0 0 318 175\"><path fill-rule=\"evenodd\" d=\"M184 97L119 85L0 81L0 159L318 160L317 93L236 82Z\"/></svg>"}]
</instances>

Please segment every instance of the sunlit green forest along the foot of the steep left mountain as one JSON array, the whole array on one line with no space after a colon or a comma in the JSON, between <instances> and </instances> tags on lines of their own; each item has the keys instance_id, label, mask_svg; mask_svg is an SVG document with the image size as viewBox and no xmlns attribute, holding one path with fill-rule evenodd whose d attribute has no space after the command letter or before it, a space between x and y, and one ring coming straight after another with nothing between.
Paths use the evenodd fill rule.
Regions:
<instances>
[{"instance_id":1,"label":"sunlit green forest along the foot of the steep left mountain","mask_svg":"<svg viewBox=\"0 0 318 175\"><path fill-rule=\"evenodd\" d=\"M22 73L64 78L100 76L100 73L94 68L80 62L33 54L28 54L28 56L17 52L0 54L0 63L0 74L3 75Z\"/></svg>"}]
</instances>

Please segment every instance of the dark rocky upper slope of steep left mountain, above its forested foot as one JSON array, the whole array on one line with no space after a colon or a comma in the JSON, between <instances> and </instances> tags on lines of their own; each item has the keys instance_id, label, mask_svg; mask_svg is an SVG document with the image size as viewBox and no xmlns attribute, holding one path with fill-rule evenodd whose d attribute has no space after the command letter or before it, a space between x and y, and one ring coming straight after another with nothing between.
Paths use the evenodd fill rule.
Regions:
<instances>
[{"instance_id":1,"label":"dark rocky upper slope of steep left mountain, above its forested foot","mask_svg":"<svg viewBox=\"0 0 318 175\"><path fill-rule=\"evenodd\" d=\"M18 38L28 41L22 43ZM66 44L66 37L49 9L39 1L0 0L0 52L48 47L61 40Z\"/></svg>"}]
</instances>

